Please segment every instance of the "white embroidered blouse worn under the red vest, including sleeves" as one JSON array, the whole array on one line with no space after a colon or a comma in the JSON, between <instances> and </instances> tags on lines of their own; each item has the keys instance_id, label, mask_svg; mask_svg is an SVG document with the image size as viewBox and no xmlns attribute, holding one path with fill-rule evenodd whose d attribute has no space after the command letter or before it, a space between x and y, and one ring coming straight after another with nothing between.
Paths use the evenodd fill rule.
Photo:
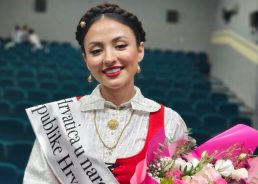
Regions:
<instances>
[{"instance_id":1,"label":"white embroidered blouse worn under the red vest, including sleeves","mask_svg":"<svg viewBox=\"0 0 258 184\"><path fill-rule=\"evenodd\" d=\"M141 151L148 132L149 113L156 112L161 107L155 101L144 98L139 88L135 87L135 90L134 97L120 106L106 101L101 96L99 86L90 95L83 96L79 100L87 125L85 133L95 142L96 150L99 150L96 156L104 162L114 163L117 158L133 156ZM96 111L95 120L94 111ZM132 117L129 121L130 116ZM115 130L107 127L107 122L111 119L116 119L119 123ZM165 135L169 138L178 138L187 134L186 125L180 115L168 107L164 109L164 127ZM118 139L119 141L111 153L100 138L108 147L114 146ZM23 180L24 184L58 183L37 140L34 143Z\"/></svg>"}]
</instances>

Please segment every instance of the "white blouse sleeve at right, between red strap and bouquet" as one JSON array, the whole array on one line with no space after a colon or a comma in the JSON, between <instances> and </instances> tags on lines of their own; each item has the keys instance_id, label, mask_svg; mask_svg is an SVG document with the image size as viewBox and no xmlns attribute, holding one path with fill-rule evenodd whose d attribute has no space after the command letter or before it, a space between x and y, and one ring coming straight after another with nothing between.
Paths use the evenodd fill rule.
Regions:
<instances>
[{"instance_id":1,"label":"white blouse sleeve at right, between red strap and bouquet","mask_svg":"<svg viewBox=\"0 0 258 184\"><path fill-rule=\"evenodd\" d=\"M187 136L187 127L181 116L172 109L165 107L165 134L168 138L177 139Z\"/></svg>"}]
</instances>

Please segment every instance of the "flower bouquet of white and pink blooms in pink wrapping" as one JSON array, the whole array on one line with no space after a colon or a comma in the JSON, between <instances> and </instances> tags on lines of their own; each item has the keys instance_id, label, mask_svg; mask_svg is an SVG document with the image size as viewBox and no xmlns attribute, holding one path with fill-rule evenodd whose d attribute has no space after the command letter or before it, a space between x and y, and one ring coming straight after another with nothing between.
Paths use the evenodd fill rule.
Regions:
<instances>
[{"instance_id":1,"label":"flower bouquet of white and pink blooms in pink wrapping","mask_svg":"<svg viewBox=\"0 0 258 184\"><path fill-rule=\"evenodd\" d=\"M194 139L165 140L160 131L146 158L136 166L133 184L257 184L258 131L236 125L199 147ZM162 142L163 144L157 144ZM165 142L165 143L164 143Z\"/></svg>"}]
</instances>

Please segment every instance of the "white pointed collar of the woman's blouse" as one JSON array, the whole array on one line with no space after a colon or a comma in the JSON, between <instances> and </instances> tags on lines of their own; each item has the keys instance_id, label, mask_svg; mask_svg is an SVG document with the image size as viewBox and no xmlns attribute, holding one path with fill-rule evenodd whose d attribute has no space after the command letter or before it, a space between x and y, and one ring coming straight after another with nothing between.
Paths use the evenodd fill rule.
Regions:
<instances>
[{"instance_id":1,"label":"white pointed collar of the woman's blouse","mask_svg":"<svg viewBox=\"0 0 258 184\"><path fill-rule=\"evenodd\" d=\"M113 104L110 101L105 100L100 93L100 85L98 85L90 95L85 95L80 98L80 109L82 112L104 109L104 108L113 108L113 109L123 109L123 108L132 108L133 110L145 111L145 112L156 112L160 109L160 105L150 99L144 98L140 89L134 87L136 93L134 97L119 106Z\"/></svg>"}]
</instances>

